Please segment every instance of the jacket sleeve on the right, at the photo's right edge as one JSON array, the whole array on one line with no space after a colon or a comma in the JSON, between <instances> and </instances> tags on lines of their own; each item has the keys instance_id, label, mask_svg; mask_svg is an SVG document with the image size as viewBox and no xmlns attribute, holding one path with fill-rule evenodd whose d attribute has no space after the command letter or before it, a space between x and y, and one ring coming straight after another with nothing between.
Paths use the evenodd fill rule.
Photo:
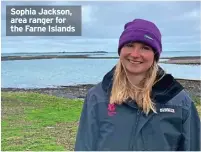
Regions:
<instances>
[{"instance_id":1,"label":"jacket sleeve on the right, at the photo's right edge","mask_svg":"<svg viewBox=\"0 0 201 152\"><path fill-rule=\"evenodd\" d=\"M181 151L200 151L200 118L191 100L187 117L183 121Z\"/></svg>"}]
</instances>

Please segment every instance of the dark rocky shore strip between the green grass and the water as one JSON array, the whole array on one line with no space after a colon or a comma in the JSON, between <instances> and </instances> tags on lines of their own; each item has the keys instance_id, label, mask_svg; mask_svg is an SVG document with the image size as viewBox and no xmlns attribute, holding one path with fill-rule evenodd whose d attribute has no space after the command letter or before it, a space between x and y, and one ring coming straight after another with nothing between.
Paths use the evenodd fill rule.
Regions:
<instances>
[{"instance_id":1,"label":"dark rocky shore strip between the green grass and the water","mask_svg":"<svg viewBox=\"0 0 201 152\"><path fill-rule=\"evenodd\" d=\"M177 79L190 96L201 97L201 81L199 80L184 80ZM87 91L93 87L94 84L77 85L77 86L60 86L58 88L36 88L36 89L21 89L21 88L1 88L1 91L11 92L37 92L57 97L64 98L85 98Z\"/></svg>"}]
</instances>

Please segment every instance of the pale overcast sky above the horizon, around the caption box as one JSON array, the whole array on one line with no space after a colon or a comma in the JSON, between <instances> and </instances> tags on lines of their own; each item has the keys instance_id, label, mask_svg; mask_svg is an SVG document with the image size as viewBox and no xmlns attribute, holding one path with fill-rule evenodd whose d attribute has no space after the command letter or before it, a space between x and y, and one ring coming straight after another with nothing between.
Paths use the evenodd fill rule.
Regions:
<instances>
[{"instance_id":1,"label":"pale overcast sky above the horizon, around the caption box","mask_svg":"<svg viewBox=\"0 0 201 152\"><path fill-rule=\"evenodd\" d=\"M81 5L82 36L6 36L6 5ZM163 51L201 51L200 2L2 2L2 52L115 52L123 26L136 18L161 30Z\"/></svg>"}]
</instances>

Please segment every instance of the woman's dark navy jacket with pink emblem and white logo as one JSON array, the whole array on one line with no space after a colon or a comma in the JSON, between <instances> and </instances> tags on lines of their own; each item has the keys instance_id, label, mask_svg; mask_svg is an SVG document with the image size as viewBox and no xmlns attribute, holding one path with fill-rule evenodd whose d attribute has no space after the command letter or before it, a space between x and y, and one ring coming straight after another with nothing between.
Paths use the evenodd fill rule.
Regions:
<instances>
[{"instance_id":1,"label":"woman's dark navy jacket with pink emblem and white logo","mask_svg":"<svg viewBox=\"0 0 201 152\"><path fill-rule=\"evenodd\" d=\"M153 86L157 113L145 115L135 102L109 105L114 69L87 93L75 151L200 150L198 112L170 74Z\"/></svg>"}]
</instances>

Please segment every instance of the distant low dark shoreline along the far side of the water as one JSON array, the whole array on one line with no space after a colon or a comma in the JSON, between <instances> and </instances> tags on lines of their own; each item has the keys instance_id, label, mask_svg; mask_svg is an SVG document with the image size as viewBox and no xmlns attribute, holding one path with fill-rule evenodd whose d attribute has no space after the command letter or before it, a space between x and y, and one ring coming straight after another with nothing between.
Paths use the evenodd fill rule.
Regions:
<instances>
[{"instance_id":1,"label":"distant low dark shoreline along the far side of the water","mask_svg":"<svg viewBox=\"0 0 201 152\"><path fill-rule=\"evenodd\" d=\"M97 52L93 52L97 53ZM100 52L103 53L103 52ZM38 56L2 56L1 61L10 60L36 60L36 59L118 59L119 57L90 57L89 55L38 55ZM184 56L184 57L161 57L167 61L159 63L166 64L193 64L201 65L201 56Z\"/></svg>"}]
</instances>

